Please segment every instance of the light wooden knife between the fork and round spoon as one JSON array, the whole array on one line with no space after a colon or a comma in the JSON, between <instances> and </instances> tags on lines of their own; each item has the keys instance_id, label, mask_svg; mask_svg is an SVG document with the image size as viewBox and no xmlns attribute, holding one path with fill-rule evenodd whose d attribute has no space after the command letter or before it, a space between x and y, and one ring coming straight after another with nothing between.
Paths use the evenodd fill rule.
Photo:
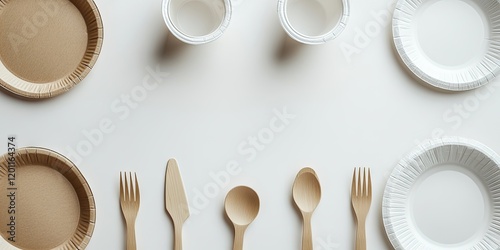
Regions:
<instances>
[{"instance_id":1,"label":"light wooden knife between the fork and round spoon","mask_svg":"<svg viewBox=\"0 0 500 250\"><path fill-rule=\"evenodd\" d=\"M170 159L167 162L165 208L174 224L174 250L182 250L182 225L189 217L189 205L184 192L179 166L175 159Z\"/></svg>"}]
</instances>

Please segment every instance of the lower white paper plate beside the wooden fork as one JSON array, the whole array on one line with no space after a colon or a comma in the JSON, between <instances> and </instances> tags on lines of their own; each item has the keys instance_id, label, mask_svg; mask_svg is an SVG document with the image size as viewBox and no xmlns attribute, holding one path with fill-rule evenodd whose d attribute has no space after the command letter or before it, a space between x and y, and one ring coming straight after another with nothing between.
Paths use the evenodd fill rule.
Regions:
<instances>
[{"instance_id":1,"label":"lower white paper plate beside the wooden fork","mask_svg":"<svg viewBox=\"0 0 500 250\"><path fill-rule=\"evenodd\" d=\"M432 140L402 159L382 216L395 249L500 249L500 158L463 138Z\"/></svg>"}]
</instances>

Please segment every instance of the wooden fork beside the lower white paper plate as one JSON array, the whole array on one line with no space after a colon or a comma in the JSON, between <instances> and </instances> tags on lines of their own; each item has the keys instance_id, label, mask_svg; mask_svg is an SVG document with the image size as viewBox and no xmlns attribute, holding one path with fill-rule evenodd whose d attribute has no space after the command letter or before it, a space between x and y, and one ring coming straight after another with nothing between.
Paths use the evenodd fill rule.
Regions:
<instances>
[{"instance_id":1,"label":"wooden fork beside the lower white paper plate","mask_svg":"<svg viewBox=\"0 0 500 250\"><path fill-rule=\"evenodd\" d=\"M356 215L356 250L366 250L365 222L372 202L370 169L354 169L351 186L351 203Z\"/></svg>"}]
</instances>

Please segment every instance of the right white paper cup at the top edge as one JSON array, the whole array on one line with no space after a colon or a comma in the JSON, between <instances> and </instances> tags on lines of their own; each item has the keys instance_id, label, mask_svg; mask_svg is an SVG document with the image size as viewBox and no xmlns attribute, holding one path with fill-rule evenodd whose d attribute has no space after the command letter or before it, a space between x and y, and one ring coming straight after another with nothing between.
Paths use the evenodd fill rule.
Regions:
<instances>
[{"instance_id":1,"label":"right white paper cup at the top edge","mask_svg":"<svg viewBox=\"0 0 500 250\"><path fill-rule=\"evenodd\" d=\"M278 14L288 35L305 44L322 44L347 25L349 0L278 0Z\"/></svg>"}]
</instances>

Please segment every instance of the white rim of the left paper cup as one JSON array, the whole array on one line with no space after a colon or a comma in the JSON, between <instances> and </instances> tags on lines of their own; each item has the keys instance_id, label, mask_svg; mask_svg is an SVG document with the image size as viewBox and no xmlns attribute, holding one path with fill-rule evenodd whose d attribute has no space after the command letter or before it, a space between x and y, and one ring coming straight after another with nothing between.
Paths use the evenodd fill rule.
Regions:
<instances>
[{"instance_id":1,"label":"white rim of the left paper cup","mask_svg":"<svg viewBox=\"0 0 500 250\"><path fill-rule=\"evenodd\" d=\"M231 21L231 14L233 12L232 10L232 5L230 0L224 0L224 18L222 19L221 24L217 29L214 31L210 32L209 34L203 35L203 36L190 36L185 33L183 33L179 28L175 26L173 21L170 18L170 2L171 0L163 0L162 2L162 14L163 14L163 20L165 21L165 24L167 25L168 30L175 36L177 39L181 40L182 42L192 44L192 45L200 45L200 44L205 44L212 42L214 40L217 40L222 34L224 34L224 31L227 29L229 26L229 22Z\"/></svg>"}]
</instances>

